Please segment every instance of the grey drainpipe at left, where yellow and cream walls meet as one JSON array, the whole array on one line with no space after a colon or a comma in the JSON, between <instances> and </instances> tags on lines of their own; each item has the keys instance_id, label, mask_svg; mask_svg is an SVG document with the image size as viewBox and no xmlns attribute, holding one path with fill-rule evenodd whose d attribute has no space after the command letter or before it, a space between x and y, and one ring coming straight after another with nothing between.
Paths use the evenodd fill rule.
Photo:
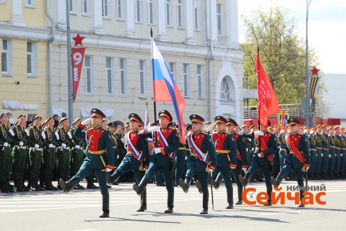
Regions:
<instances>
[{"instance_id":1,"label":"grey drainpipe at left, where yellow and cream walls meet","mask_svg":"<svg viewBox=\"0 0 346 231\"><path fill-rule=\"evenodd\" d=\"M50 14L49 0L46 0L46 16L52 22L51 38L48 41L48 117L53 116L53 77L52 77L52 42L55 36L55 20Z\"/></svg>"}]
</instances>

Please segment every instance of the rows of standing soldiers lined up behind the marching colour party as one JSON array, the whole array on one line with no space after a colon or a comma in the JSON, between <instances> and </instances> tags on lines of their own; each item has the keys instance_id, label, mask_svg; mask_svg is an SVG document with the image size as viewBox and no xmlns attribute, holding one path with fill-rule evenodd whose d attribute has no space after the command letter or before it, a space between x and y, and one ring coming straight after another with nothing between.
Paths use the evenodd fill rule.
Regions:
<instances>
[{"instance_id":1,"label":"rows of standing soldiers lined up behind the marching colour party","mask_svg":"<svg viewBox=\"0 0 346 231\"><path fill-rule=\"evenodd\" d=\"M59 184L53 185L52 181L56 179L64 179L65 181L73 177L81 167L85 154L87 152L87 144L85 140L78 139L73 136L73 131L81 118L76 118L69 127L69 121L62 114L59 120L58 115L49 117L42 122L40 116L35 116L33 121L26 121L25 115L18 116L17 121L10 117L10 112L6 110L1 114L0 129L0 188L2 193L26 192L29 190L58 190L62 189ZM205 128L211 122L205 123ZM152 123L151 126L155 124ZM157 126L160 126L156 122ZM85 129L89 129L86 126ZM124 146L124 134L130 131L129 124L124 124L125 128L115 122L108 123L106 119L102 121L103 128L108 127L113 134L113 148L115 150L115 167L119 166L122 159L126 156L127 150ZM170 126L176 127L174 122ZM185 124L186 132L191 131L191 125ZM139 124L138 130L143 130L143 122ZM255 125L243 125L242 128L237 125L235 132L243 134L244 132L257 131ZM268 127L268 131L277 136L277 152L274 154L273 172L274 177L279 174L282 169L285 158L286 142L285 135L289 132L286 128L280 128L279 125ZM212 133L213 131L210 131ZM326 125L318 125L309 128L307 126L299 127L298 132L306 133L310 145L311 168L308 170L308 178L311 180L322 179L346 179L346 137L344 127L329 127ZM255 143L253 139L243 139L246 146L248 163L250 165L251 158L255 151ZM149 142L149 151L153 146ZM179 185L179 179L184 178L186 174L186 160L190 156L190 151L186 150L185 163L182 166L175 166L174 181L175 186ZM115 171L115 169L113 170ZM11 174L10 174L11 173ZM112 174L112 172L110 172ZM14 185L10 184L13 179ZM28 180L27 185L24 184ZM87 188L99 188L94 185L94 174L85 178ZM198 180L198 176L194 176L192 184ZM232 179L235 182L234 179ZM294 173L286 175L285 180L295 180ZM134 182L133 171L123 174L119 180L113 185L122 182ZM261 170L253 175L250 182L264 182ZM157 186L165 186L164 178L161 172L158 172L152 179L152 183ZM111 186L108 186L111 187ZM80 184L74 189L84 189Z\"/></svg>"}]
</instances>

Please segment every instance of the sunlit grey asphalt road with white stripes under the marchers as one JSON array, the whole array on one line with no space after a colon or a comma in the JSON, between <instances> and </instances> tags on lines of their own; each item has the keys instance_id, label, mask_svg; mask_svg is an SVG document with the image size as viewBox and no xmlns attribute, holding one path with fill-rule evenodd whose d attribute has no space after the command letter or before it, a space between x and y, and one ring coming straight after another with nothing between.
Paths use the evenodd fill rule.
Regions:
<instances>
[{"instance_id":1,"label":"sunlit grey asphalt road with white stripes under the marchers","mask_svg":"<svg viewBox=\"0 0 346 231\"><path fill-rule=\"evenodd\" d=\"M110 192L110 217L99 218L102 199L98 189L43 191L0 194L0 231L14 230L345 230L346 180L309 181L311 186L325 184L326 196L321 197L325 205L314 203L298 208L293 201L284 205L235 205L226 210L226 189L222 184L213 190L215 211L212 211L211 194L209 214L200 215L202 195L194 187L185 194L175 187L174 213L165 214L167 192L165 187L149 184L147 187L148 210L136 212L139 196L132 183L112 186ZM86 186L86 183L82 183ZM286 186L296 182L283 181ZM265 192L264 183L250 183L256 192L247 195L254 200L258 192ZM210 191L210 188L209 188ZM234 201L237 201L234 184ZM210 192L209 192L210 193ZM316 193L314 193L316 194Z\"/></svg>"}]
</instances>

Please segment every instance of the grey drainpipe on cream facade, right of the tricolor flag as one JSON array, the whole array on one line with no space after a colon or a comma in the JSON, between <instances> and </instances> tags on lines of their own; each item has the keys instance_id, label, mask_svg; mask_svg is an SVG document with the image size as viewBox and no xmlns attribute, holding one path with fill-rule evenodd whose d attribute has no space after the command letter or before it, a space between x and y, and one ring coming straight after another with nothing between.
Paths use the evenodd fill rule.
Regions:
<instances>
[{"instance_id":1,"label":"grey drainpipe on cream facade, right of the tricolor flag","mask_svg":"<svg viewBox=\"0 0 346 231\"><path fill-rule=\"evenodd\" d=\"M209 0L204 0L204 15L206 19L206 37L210 44L210 56L208 59L208 117L211 121L211 60L214 58L213 41L209 37Z\"/></svg>"}]
</instances>

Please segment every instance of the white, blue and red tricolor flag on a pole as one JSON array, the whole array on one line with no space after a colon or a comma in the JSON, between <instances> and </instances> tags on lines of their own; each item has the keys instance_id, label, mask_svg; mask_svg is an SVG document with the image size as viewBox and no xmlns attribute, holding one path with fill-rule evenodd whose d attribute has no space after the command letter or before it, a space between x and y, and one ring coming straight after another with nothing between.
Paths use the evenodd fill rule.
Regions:
<instances>
[{"instance_id":1,"label":"white, blue and red tricolor flag on a pole","mask_svg":"<svg viewBox=\"0 0 346 231\"><path fill-rule=\"evenodd\" d=\"M163 57L151 37L152 48L152 70L153 70L153 89L154 89L154 102L157 101L172 101L175 115L179 124L179 140L185 143L185 125L183 121L183 110L185 107L185 100L180 94L176 83L169 72Z\"/></svg>"}]
</instances>

